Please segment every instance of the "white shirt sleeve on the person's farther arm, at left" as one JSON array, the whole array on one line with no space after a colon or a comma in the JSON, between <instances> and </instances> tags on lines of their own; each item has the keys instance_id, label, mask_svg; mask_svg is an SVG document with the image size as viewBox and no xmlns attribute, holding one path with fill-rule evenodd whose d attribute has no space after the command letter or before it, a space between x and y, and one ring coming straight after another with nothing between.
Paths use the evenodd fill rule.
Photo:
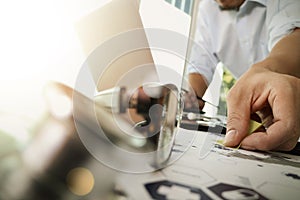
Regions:
<instances>
[{"instance_id":1,"label":"white shirt sleeve on the person's farther arm, at left","mask_svg":"<svg viewBox=\"0 0 300 200\"><path fill-rule=\"evenodd\" d=\"M192 40L190 56L188 59L188 73L202 74L208 83L212 81L217 58L213 55L211 43L211 34L209 33L208 22L205 20L205 4L200 3L197 20L195 37Z\"/></svg>"}]
</instances>

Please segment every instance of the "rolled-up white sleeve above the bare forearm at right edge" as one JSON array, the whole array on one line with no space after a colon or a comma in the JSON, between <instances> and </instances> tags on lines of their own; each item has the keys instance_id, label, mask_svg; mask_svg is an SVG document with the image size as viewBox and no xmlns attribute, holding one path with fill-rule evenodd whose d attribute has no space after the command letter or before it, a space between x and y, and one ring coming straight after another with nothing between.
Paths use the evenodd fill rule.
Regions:
<instances>
[{"instance_id":1,"label":"rolled-up white sleeve above the bare forearm at right edge","mask_svg":"<svg viewBox=\"0 0 300 200\"><path fill-rule=\"evenodd\" d=\"M300 27L299 0L271 0L267 4L268 50L285 35Z\"/></svg>"}]
</instances>

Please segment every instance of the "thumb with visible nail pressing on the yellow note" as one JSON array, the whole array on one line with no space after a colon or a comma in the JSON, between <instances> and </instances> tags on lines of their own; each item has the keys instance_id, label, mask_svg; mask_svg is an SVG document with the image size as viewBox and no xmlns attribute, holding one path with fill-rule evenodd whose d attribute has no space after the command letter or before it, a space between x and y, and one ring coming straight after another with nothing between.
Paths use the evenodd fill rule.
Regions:
<instances>
[{"instance_id":1,"label":"thumb with visible nail pressing on the yellow note","mask_svg":"<svg viewBox=\"0 0 300 200\"><path fill-rule=\"evenodd\" d=\"M242 91L242 90L239 90ZM251 98L232 88L227 96L227 132L225 146L237 146L248 134Z\"/></svg>"}]
</instances>

